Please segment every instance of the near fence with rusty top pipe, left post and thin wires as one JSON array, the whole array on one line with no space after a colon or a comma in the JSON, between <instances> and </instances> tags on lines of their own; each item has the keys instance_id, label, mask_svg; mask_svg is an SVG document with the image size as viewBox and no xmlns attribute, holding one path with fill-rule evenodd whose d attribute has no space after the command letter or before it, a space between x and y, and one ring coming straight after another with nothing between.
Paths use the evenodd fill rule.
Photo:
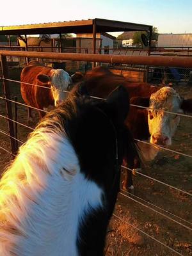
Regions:
<instances>
[{"instance_id":1,"label":"near fence with rusty top pipe, left post and thin wires","mask_svg":"<svg viewBox=\"0 0 192 256\"><path fill-rule=\"evenodd\" d=\"M13 123L22 125L22 126L28 128L28 129L30 129L31 131L33 131L33 127L30 127L28 125L24 125L24 124L18 122L17 120L13 120L12 105L11 105L12 103L19 104L20 106L25 106L25 107L29 107L29 106L26 105L26 104L23 104L21 102L17 102L17 100L12 100L11 97L10 97L10 84L9 84L9 82L20 83L20 81L13 80L13 79L9 78L9 76L8 76L8 66L7 66L7 63L6 63L6 56L12 56L12 54L13 54L13 56L24 56L24 57L33 57L34 58L34 56L36 56L37 53L36 52L12 52L12 51L11 52L10 51L4 51L3 52L3 51L0 51L0 54L1 54L1 65L2 65L2 69L3 69L3 77L1 77L1 81L3 81L3 84L4 84L4 96L5 96L5 97L0 97L0 99L5 100L6 106L7 106L6 116L0 115L0 117L5 118L6 120L9 121L9 123L8 123L9 124L9 133L6 132L6 131L3 131L2 129L0 129L0 133L4 134L4 135L6 135L10 138L11 145L12 145L12 152L9 152L6 148L3 148L3 147L0 147L0 148L2 150L4 150L5 152L10 153L13 157L15 157L16 154L17 154L17 150L18 150L18 148L15 148L16 147L15 141L19 142L20 144L24 143L24 141L22 141L18 138L15 138L15 127L13 126ZM122 58L121 56L118 56L119 58L116 58L114 56L107 56L108 58L106 58L106 56L103 56L103 55L97 56L97 54L86 54L86 56L84 56L84 54L75 54L75 55L74 54L62 54L62 53L58 53L58 54L46 53L45 54L45 53L42 53L42 52L38 52L38 58L52 58L53 56L54 56L54 58L56 58L56 60L60 60L60 58L61 58L61 60L66 60L66 59L69 60L70 58L72 58L72 60L101 61L101 62L106 62L106 63L107 62L109 62L109 63L115 63L115 62L120 63L120 61L122 61L122 63L125 63L125 64L126 63L127 64L128 63L138 64L138 63L141 63L143 61L143 63L145 63L145 65L148 65L149 63L153 63L154 65L157 65L157 66L159 66L159 65L171 65L172 67L182 66L182 67L192 68L192 60L187 60L186 58L179 58L178 59L176 57L175 58L172 58L172 57L166 58L166 57L152 57L152 56L147 56L147 58L144 58L143 56L140 56L140 58L134 57L134 56L132 56L132 58L129 58L128 56L124 56L124 58ZM36 85L36 84L29 84L29 83L28 83L28 85L29 86L30 85L39 86L39 85ZM47 87L44 87L44 86L40 86L40 87L47 89ZM97 99L100 99L100 98L97 98ZM101 100L104 100L104 99L101 99ZM138 105L132 105L132 106L135 106L136 108L145 108L145 107L138 106ZM33 108L33 107L31 107L31 108ZM38 108L33 108L33 109L43 111L42 109L38 109ZM148 109L148 108L146 108L146 109ZM161 111L161 109L157 109L157 111ZM170 114L173 114L173 115L182 115L182 116L185 116L185 117L188 117L188 118L192 117L190 115L184 115L184 114L174 113L174 112L170 112L170 111L167 111L167 112L170 113ZM136 141L138 141L140 143L147 143L145 141L140 141L140 140L136 140ZM150 143L147 143L147 144L149 144L150 146L161 148L163 150L168 150L168 151L173 152L175 154L180 154L181 156L190 157L190 158L192 157L189 154L184 154L184 153L178 152L176 150L170 150L168 148L164 148L164 147L157 146L157 145L152 145ZM132 171L130 168L127 168L126 166L122 166L122 168L125 168L129 171ZM161 182L161 180L154 179L154 178L149 177L148 175L145 175L145 174L140 173L138 171L136 171L136 173L138 173L139 175L141 175L141 176L143 176L147 179L154 180L154 181L166 186L167 188L175 189L175 191L178 191L179 193L183 193L186 196L192 196L192 194L188 193L188 191L184 191L182 189L179 189L179 188L177 188L175 186L172 186L170 184L167 184L165 182ZM127 198L129 200L132 200L132 201L136 202L137 204L142 205L143 207L147 207L147 209L149 209L150 211L156 212L157 214L163 216L164 218L166 218L170 221L173 221L175 224L178 224L178 225L186 228L189 231L192 230L192 226L190 226L190 225L192 225L192 223L190 221L184 220L184 218L180 218L179 216L177 216L175 214L172 214L172 212L168 212L168 211L164 210L163 208L158 207L155 204L151 204L150 202L147 202L146 200L143 200L142 198L140 198L138 196L135 196L136 199L134 199L134 198L132 198L132 196L134 196L134 195L132 195L132 196L126 195L125 191L121 191L120 195L124 196L125 198ZM146 204L144 204L144 203L146 203ZM152 207L149 207L148 204L150 204ZM177 252L176 250L174 250L170 246L168 246L168 245L164 244L163 242L159 241L159 239L156 239L155 237L150 236L149 234L147 234L147 232L144 232L140 228L135 227L131 223L128 223L121 216L117 216L116 214L113 214L113 216L115 216L115 218L118 218L118 220L126 223L126 225L129 225L132 228L135 228L136 230L141 232L142 234L145 234L145 236L150 237L150 239L153 239L157 243L166 247L171 252L174 252L177 255L182 255L180 252Z\"/></svg>"}]
</instances>

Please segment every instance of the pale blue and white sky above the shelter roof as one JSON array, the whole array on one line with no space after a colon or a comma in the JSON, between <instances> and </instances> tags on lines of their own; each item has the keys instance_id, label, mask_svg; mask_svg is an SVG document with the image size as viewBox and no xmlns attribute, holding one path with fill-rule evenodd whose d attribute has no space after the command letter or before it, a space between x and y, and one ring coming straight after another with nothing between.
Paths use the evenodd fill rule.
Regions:
<instances>
[{"instance_id":1,"label":"pale blue and white sky above the shelter roof","mask_svg":"<svg viewBox=\"0 0 192 256\"><path fill-rule=\"evenodd\" d=\"M0 26L100 18L192 33L192 0L1 0L0 8Z\"/></svg>"}]
</instances>

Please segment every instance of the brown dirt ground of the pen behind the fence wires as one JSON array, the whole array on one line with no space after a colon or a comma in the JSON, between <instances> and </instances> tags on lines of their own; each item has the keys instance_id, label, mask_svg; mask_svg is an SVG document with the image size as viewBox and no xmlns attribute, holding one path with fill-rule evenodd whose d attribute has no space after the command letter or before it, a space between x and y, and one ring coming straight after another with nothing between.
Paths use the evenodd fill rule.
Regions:
<instances>
[{"instance_id":1,"label":"brown dirt ground of the pen behind the fence wires","mask_svg":"<svg viewBox=\"0 0 192 256\"><path fill-rule=\"evenodd\" d=\"M19 79L19 70L13 69L10 75L12 79ZM20 84L10 83L10 85L12 96L17 96L18 101L22 102ZM192 97L192 88L190 87L178 85L175 86L175 89L182 97ZM0 95L2 95L1 83ZM27 109L23 106L17 106L17 108L18 121L27 125ZM0 100L0 114L5 115L3 100ZM35 113L35 117L35 121L30 124L32 127L35 127L36 122L38 122L37 113ZM173 138L172 147L170 148L192 156L191 127L191 118L182 117ZM0 129L8 131L4 118L0 118ZM29 129L18 125L18 130L18 138L20 140L26 140ZM10 150L10 139L1 134L1 132L0 146L6 148L6 150ZM10 154L0 148L0 172L3 172L6 165L10 163L10 159ZM154 161L143 164L142 173L192 194L192 159L189 157L162 151ZM134 177L134 187L134 195L127 194L123 191L129 197L124 195L118 196L114 212L116 216L119 216L132 226L143 230L148 235L155 237L161 243L170 246L181 255L192 255L192 232L188 229L192 229L191 196L138 174ZM147 204L143 200L150 204ZM143 205L136 201L139 201ZM152 204L161 207L166 212L154 207ZM161 212L182 225L147 207ZM175 216L170 213L175 214ZM179 216L179 218L176 216ZM175 252L168 250L132 226L113 216L108 228L106 256L177 255Z\"/></svg>"}]
</instances>

